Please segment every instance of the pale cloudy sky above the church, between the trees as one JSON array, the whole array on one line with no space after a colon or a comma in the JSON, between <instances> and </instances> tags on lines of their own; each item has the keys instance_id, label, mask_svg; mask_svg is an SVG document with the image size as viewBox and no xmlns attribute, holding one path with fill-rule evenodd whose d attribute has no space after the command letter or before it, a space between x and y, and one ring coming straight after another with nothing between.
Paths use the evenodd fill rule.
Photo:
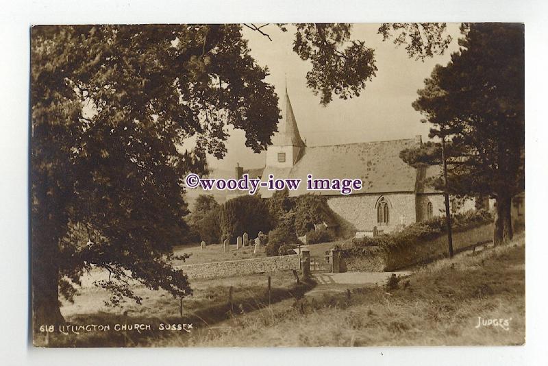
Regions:
<instances>
[{"instance_id":1,"label":"pale cloudy sky above the church, between the trees","mask_svg":"<svg viewBox=\"0 0 548 366\"><path fill-rule=\"evenodd\" d=\"M303 61L292 51L295 28L281 32L275 25L262 30L272 41L259 32L244 27L243 37L249 40L251 56L261 66L268 66L270 75L266 82L275 86L283 101L284 88L288 89L299 132L308 146L337 145L368 141L397 140L422 135L427 141L429 126L421 123L421 114L411 103L416 99L416 90L423 88L424 79L429 77L436 64L447 64L451 53L458 50L459 24L448 25L447 32L453 41L443 56L427 58L424 62L409 58L406 49L397 47L392 40L382 41L377 34L379 24L353 25L351 39L364 40L367 47L375 50L378 71L373 80L366 83L360 97L334 100L321 106L320 96L315 96L306 86L306 72L310 63ZM283 109L283 106L280 106ZM254 154L245 147L244 132L229 130L226 142L227 155L223 160L208 156L213 171L225 173L241 167L264 167L265 153Z\"/></svg>"}]
</instances>

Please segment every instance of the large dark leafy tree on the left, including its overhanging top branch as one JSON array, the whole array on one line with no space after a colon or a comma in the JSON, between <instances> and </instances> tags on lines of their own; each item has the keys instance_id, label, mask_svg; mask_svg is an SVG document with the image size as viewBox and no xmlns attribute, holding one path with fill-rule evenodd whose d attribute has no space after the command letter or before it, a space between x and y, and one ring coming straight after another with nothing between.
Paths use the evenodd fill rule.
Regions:
<instances>
[{"instance_id":1,"label":"large dark leafy tree on the left, including its overhanging top branch","mask_svg":"<svg viewBox=\"0 0 548 366\"><path fill-rule=\"evenodd\" d=\"M351 25L295 28L321 103L359 95L375 75L373 50L350 40ZM170 264L188 234L182 178L206 173L206 154L225 156L228 126L253 151L271 143L279 108L267 75L242 25L32 28L34 319L62 321L59 289L70 299L94 266L110 273L100 285L113 304L140 301L129 278L191 292Z\"/></svg>"}]
</instances>

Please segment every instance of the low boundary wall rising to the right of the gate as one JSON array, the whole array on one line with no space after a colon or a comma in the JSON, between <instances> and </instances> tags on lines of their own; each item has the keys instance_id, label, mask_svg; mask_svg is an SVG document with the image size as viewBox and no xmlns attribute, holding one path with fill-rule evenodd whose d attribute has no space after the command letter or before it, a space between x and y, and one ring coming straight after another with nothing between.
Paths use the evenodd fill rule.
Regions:
<instances>
[{"instance_id":1,"label":"low boundary wall rising to the right of the gate","mask_svg":"<svg viewBox=\"0 0 548 366\"><path fill-rule=\"evenodd\" d=\"M493 223L476 228L453 232L453 251L462 252L479 243L493 240ZM360 255L345 254L344 267L347 271L395 271L412 265L427 263L449 256L447 234L420 243L410 243L407 247L387 252L380 247L368 247ZM344 252L344 249L343 249Z\"/></svg>"}]
</instances>

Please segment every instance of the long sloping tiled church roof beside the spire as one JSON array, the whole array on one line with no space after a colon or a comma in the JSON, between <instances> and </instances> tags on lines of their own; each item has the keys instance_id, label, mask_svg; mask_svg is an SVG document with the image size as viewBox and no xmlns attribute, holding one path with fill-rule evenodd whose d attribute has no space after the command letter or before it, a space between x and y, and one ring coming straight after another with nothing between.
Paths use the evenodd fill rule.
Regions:
<instances>
[{"instance_id":1,"label":"long sloping tiled church roof beside the spire","mask_svg":"<svg viewBox=\"0 0 548 366\"><path fill-rule=\"evenodd\" d=\"M273 174L274 178L300 178L301 184L297 191L290 191L291 196L316 193L321 195L340 195L340 191L307 191L308 174L313 178L361 179L362 189L351 194L363 193L414 193L419 187L420 174L410 165L403 162L399 152L414 147L414 138L395 141L377 141L371 143L352 143L345 145L329 145L306 147L303 156L291 168L265 167L262 181ZM427 171L425 175L435 173ZM421 193L431 191L421 185ZM261 190L262 197L270 197L272 191ZM419 192L417 192L419 193Z\"/></svg>"}]
</instances>

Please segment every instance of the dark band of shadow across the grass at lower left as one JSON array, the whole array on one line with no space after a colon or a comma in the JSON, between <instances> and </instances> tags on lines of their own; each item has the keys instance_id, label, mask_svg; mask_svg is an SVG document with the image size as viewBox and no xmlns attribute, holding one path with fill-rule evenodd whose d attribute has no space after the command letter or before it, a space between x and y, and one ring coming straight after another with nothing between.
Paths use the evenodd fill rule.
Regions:
<instances>
[{"instance_id":1,"label":"dark band of shadow across the grass at lower left","mask_svg":"<svg viewBox=\"0 0 548 366\"><path fill-rule=\"evenodd\" d=\"M183 324L192 324L193 329L208 328L221 321L231 319L240 313L249 313L254 310L266 308L270 304L282 300L294 298L299 300L303 295L313 289L316 282L313 280L301 281L288 288L272 288L270 294L264 288L253 286L251 289L234 289L232 302L229 297L224 300L216 300L214 304L201 306L196 310L189 311L183 316L135 315L131 311L124 314L113 314L106 312L88 313L75 315L68 320L73 326L109 326L109 330L77 330L66 327L63 334L53 332L49 334L35 333L34 345L49 347L151 347L162 339L174 336L192 334L184 330ZM149 326L150 330L142 329L142 325ZM180 325L180 326L179 326ZM126 328L123 329L123 326ZM163 330L162 330L163 328ZM188 329L188 326L186 327ZM97 329L97 328L96 328Z\"/></svg>"}]
</instances>

